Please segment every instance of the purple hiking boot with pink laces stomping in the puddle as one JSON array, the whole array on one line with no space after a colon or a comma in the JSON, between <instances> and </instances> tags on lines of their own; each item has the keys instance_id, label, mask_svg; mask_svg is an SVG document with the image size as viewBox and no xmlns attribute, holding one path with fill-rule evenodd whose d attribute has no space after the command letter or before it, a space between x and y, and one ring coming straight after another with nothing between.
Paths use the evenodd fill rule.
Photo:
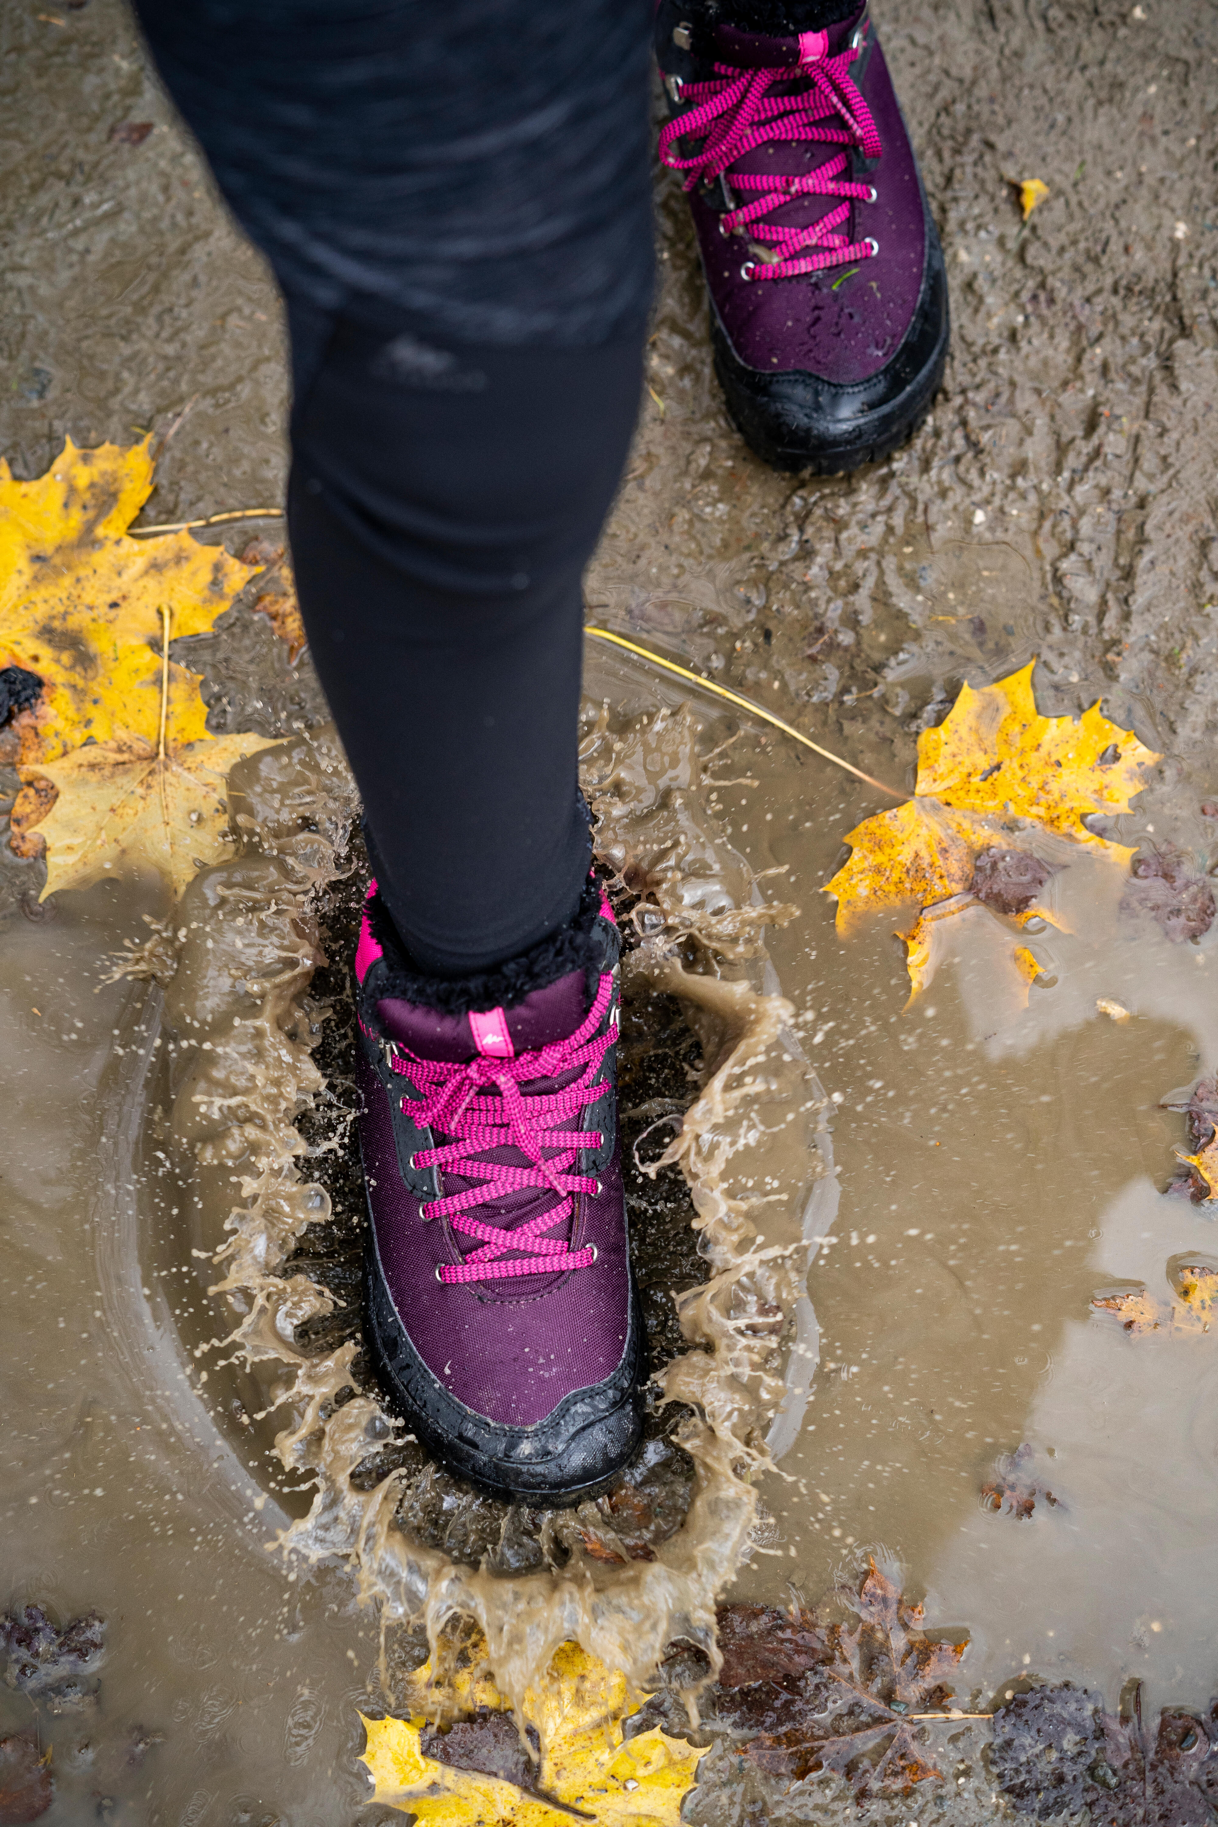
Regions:
<instances>
[{"instance_id":1,"label":"purple hiking boot with pink laces stomping in the puddle","mask_svg":"<svg viewBox=\"0 0 1218 1827\"><path fill-rule=\"evenodd\" d=\"M429 1452L531 1504L604 1485L643 1427L617 957L593 881L541 968L418 999L376 882L356 950L369 1352Z\"/></svg>"}]
</instances>

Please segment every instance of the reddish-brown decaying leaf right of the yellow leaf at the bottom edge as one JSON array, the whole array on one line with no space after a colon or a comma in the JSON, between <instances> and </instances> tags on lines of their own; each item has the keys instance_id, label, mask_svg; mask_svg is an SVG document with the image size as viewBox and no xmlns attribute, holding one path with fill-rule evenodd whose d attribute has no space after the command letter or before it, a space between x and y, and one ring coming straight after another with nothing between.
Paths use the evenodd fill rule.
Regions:
<instances>
[{"instance_id":1,"label":"reddish-brown decaying leaf right of the yellow leaf at the bottom edge","mask_svg":"<svg viewBox=\"0 0 1218 1827\"><path fill-rule=\"evenodd\" d=\"M966 1644L928 1637L922 1608L875 1560L844 1597L853 1630L813 1611L725 1608L718 1710L756 1732L743 1754L776 1778L835 1770L860 1798L942 1781L920 1752L920 1716L948 1716Z\"/></svg>"}]
</instances>

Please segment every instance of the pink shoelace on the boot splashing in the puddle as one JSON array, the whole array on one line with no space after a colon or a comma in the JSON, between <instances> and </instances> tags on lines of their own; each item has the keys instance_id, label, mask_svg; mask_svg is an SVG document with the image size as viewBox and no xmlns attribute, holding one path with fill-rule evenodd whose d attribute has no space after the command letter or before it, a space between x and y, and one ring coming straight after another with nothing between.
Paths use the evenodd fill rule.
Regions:
<instances>
[{"instance_id":1,"label":"pink shoelace on the boot splashing in the puddle","mask_svg":"<svg viewBox=\"0 0 1218 1827\"><path fill-rule=\"evenodd\" d=\"M464 1061L420 1060L409 1049L394 1045L391 1063L394 1072L409 1076L422 1093L404 1098L402 1109L420 1129L435 1129L451 1136L440 1147L425 1147L415 1155L416 1167L440 1167L475 1180L475 1186L444 1199L433 1199L424 1208L427 1219L447 1219L455 1231L477 1237L480 1250L471 1250L460 1264L444 1262L436 1270L442 1283L499 1281L509 1275L553 1275L568 1268L586 1268L595 1262L593 1244L572 1250L546 1231L572 1219L575 1193L597 1193L599 1182L588 1175L572 1173L581 1149L601 1146L599 1129L566 1127L586 1104L604 1096L604 1085L593 1083L604 1049L617 1040L617 1023L597 1034L614 994L614 977L604 974L597 998L584 1021L566 1040L551 1041L535 1052L520 1052L509 1060L486 1054ZM577 1072L559 1091L526 1091L539 1078L562 1078ZM488 1149L519 1149L530 1166L508 1166L478 1160ZM526 1224L504 1230L484 1224L473 1213L506 1193L524 1188L548 1189L550 1202ZM509 1250L531 1250L533 1255L504 1261Z\"/></svg>"}]
</instances>

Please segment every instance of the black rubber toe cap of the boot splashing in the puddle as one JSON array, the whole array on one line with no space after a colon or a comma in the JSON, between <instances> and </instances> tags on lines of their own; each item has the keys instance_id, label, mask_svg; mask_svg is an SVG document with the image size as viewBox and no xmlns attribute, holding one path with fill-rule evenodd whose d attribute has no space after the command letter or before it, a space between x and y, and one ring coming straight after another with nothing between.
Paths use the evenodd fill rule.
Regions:
<instances>
[{"instance_id":1,"label":"black rubber toe cap of the boot splashing in the puddle","mask_svg":"<svg viewBox=\"0 0 1218 1827\"><path fill-rule=\"evenodd\" d=\"M646 1348L630 1288L630 1337L612 1378L575 1390L535 1427L506 1427L457 1401L402 1330L367 1224L363 1345L389 1407L447 1471L488 1496L568 1509L608 1489L643 1438Z\"/></svg>"}]
</instances>

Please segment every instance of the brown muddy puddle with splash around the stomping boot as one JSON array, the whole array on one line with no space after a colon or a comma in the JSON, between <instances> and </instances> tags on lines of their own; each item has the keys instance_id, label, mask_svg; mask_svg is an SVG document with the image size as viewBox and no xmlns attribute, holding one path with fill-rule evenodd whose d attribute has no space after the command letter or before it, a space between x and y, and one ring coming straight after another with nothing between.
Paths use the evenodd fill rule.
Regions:
<instances>
[{"instance_id":1,"label":"brown muddy puddle with splash around the stomping boot","mask_svg":"<svg viewBox=\"0 0 1218 1827\"><path fill-rule=\"evenodd\" d=\"M1037 983L973 906L908 1003L887 924L842 941L822 893L873 789L592 641L583 773L628 932L654 1412L579 1511L464 1491L362 1363L362 859L327 731L241 764L241 853L172 923L139 882L7 923L5 1599L102 1621L0 1688L5 1732L53 1743L47 1820L345 1818L356 1708L429 1639L444 1668L475 1621L506 1694L568 1635L646 1683L672 1639L710 1648L718 1597L816 1602L871 1555L968 1635L957 1705L1209 1699L1214 1336L1092 1297L1169 1306L1218 1264L1207 1208L1165 1191L1161 1107L1214 1071L1213 932L1172 941L1152 893L1046 839ZM1149 857L1152 826L1114 835ZM1205 868L1213 820L1172 829ZM986 1736L953 1739L981 1816ZM725 1756L698 1820L838 1794L782 1801Z\"/></svg>"}]
</instances>

